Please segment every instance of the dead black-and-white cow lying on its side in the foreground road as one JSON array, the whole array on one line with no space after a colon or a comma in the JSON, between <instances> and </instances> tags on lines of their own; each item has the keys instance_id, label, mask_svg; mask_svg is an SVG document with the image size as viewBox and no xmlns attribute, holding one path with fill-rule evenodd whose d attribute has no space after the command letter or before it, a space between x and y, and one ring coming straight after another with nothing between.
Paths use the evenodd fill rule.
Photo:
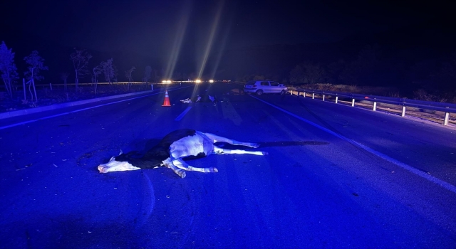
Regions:
<instances>
[{"instance_id":1,"label":"dead black-and-white cow lying on its side in the foreground road","mask_svg":"<svg viewBox=\"0 0 456 249\"><path fill-rule=\"evenodd\" d=\"M217 172L218 170L214 167L195 168L188 165L183 159L207 157L209 154L255 154L259 156L267 154L267 152L249 152L242 149L222 149L214 145L216 142L252 148L259 147L259 144L238 142L214 134L198 132L194 129L177 129L163 137L159 144L144 155L140 156L138 152L127 154L120 152L118 156L111 157L106 164L100 164L98 170L100 173L108 173L166 166L184 178L185 171Z\"/></svg>"}]
</instances>

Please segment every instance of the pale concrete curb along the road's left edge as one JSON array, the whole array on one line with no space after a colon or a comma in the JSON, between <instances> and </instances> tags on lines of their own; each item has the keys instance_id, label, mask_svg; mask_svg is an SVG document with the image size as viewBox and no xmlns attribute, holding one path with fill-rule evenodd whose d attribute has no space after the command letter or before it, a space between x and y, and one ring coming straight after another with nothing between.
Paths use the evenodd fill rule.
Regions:
<instances>
[{"instance_id":1,"label":"pale concrete curb along the road's left edge","mask_svg":"<svg viewBox=\"0 0 456 249\"><path fill-rule=\"evenodd\" d=\"M73 107L76 105L84 105L84 104L103 101L103 100L112 100L112 99L116 99L116 98L120 98L120 97L147 94L150 92L153 92L153 90L147 90L147 91L143 91L143 92L131 92L131 93L125 93L125 94L121 94L121 95L112 95L112 96L106 96L106 97L98 97L95 99L66 102L66 103L61 103L61 104L57 104L57 105L47 105L47 106L43 106L43 107L29 108L29 109L17 110L17 111L12 111L12 112L2 112L2 113L0 113L0 120L6 119L9 117L17 117L17 116L28 115L28 114L37 113L37 112L44 112L44 111L48 111L48 110L57 110L57 109L61 109L64 107Z\"/></svg>"}]
</instances>

